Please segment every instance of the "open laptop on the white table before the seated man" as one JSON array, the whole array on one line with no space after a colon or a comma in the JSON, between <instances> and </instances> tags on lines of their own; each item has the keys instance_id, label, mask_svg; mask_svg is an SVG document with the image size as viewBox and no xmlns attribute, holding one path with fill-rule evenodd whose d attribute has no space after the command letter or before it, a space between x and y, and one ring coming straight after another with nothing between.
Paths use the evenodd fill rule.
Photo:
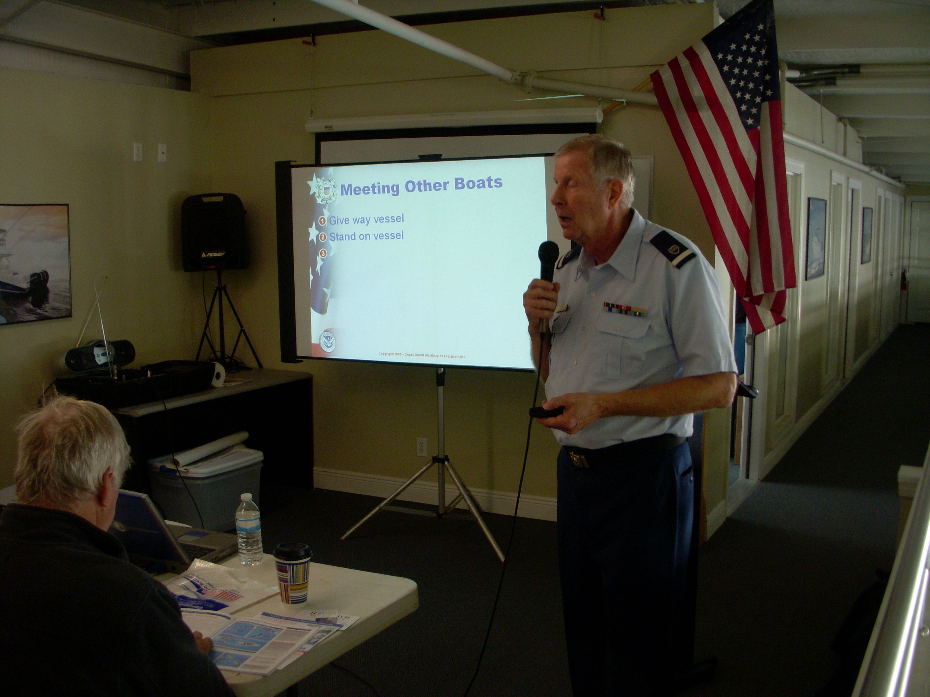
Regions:
<instances>
[{"instance_id":1,"label":"open laptop on the white table before the seated man","mask_svg":"<svg viewBox=\"0 0 930 697\"><path fill-rule=\"evenodd\" d=\"M143 569L164 564L169 572L185 572L193 559L219 561L237 548L235 535L170 525L145 493L120 489L110 533L133 563Z\"/></svg>"}]
</instances>

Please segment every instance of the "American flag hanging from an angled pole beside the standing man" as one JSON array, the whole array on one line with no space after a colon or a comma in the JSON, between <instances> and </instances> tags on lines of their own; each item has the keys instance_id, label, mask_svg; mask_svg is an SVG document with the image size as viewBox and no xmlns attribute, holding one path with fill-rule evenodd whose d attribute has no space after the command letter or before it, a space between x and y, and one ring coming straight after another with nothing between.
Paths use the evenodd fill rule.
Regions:
<instances>
[{"instance_id":1,"label":"American flag hanging from an angled pole beside the standing man","mask_svg":"<svg viewBox=\"0 0 930 697\"><path fill-rule=\"evenodd\" d=\"M784 322L797 284L788 218L773 0L753 0L653 72L752 331Z\"/></svg>"}]
</instances>

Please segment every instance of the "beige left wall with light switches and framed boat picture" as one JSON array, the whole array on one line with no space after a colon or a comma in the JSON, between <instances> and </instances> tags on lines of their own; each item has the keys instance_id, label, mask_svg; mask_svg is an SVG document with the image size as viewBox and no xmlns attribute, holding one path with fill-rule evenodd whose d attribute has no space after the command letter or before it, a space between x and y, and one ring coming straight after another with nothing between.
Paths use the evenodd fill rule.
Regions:
<instances>
[{"instance_id":1,"label":"beige left wall with light switches and framed boat picture","mask_svg":"<svg viewBox=\"0 0 930 697\"><path fill-rule=\"evenodd\" d=\"M70 204L73 317L0 326L0 486L13 426L63 371L102 296L107 336L140 362L193 358L200 278L180 270L179 210L210 186L209 100L155 87L0 69L0 204ZM132 162L132 143L144 161ZM155 162L158 143L168 146ZM12 242L12 240L11 240ZM91 326L87 336L100 337Z\"/></svg>"}]
</instances>

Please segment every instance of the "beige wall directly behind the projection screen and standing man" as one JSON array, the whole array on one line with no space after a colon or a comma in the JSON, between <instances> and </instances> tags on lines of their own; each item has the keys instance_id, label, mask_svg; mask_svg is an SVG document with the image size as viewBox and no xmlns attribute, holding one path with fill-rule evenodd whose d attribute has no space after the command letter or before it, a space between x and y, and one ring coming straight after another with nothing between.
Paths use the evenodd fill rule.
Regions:
<instances>
[{"instance_id":1,"label":"beige wall directly behind the projection screen and standing man","mask_svg":"<svg viewBox=\"0 0 930 697\"><path fill-rule=\"evenodd\" d=\"M710 31L712 20L708 4L609 10L605 22L578 12L423 29L513 69L632 88ZM230 274L231 293L263 362L313 374L316 466L409 476L417 463L415 439L427 436L431 450L435 447L432 369L278 362L273 163L312 162L313 139L303 128L311 110L330 118L565 107L594 100L518 102L526 97L522 90L379 32L323 36L315 48L294 40L198 51L192 76L193 89L213 98L215 188L243 198L252 230L255 261L249 270ZM710 231L658 109L619 108L606 116L601 130L626 142L634 154L655 156L654 218L691 237L712 261ZM448 376L446 450L470 486L515 491L533 380L476 370ZM729 436L725 410L721 414L711 416L709 509L725 496ZM718 433L722 427L725 438ZM525 493L555 495L555 453L551 434L535 428Z\"/></svg>"}]
</instances>

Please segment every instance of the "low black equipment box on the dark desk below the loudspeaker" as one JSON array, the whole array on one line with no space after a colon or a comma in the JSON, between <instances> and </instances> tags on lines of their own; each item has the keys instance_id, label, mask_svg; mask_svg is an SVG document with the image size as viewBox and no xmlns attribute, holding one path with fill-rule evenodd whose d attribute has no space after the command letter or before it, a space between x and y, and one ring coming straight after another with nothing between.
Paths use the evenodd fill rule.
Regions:
<instances>
[{"instance_id":1,"label":"low black equipment box on the dark desk below the loudspeaker","mask_svg":"<svg viewBox=\"0 0 930 697\"><path fill-rule=\"evenodd\" d=\"M163 361L139 369L119 368L115 380L106 371L60 377L55 388L60 394L96 401L108 409L121 409L201 392L210 387L213 372L211 362Z\"/></svg>"}]
</instances>

